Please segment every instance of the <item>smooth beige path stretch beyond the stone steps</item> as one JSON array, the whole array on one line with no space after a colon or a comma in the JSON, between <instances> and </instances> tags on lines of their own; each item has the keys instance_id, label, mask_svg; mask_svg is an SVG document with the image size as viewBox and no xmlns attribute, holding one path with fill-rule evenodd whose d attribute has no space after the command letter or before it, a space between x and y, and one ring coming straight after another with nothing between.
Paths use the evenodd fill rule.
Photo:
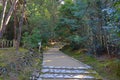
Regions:
<instances>
[{"instance_id":1,"label":"smooth beige path stretch beyond the stone steps","mask_svg":"<svg viewBox=\"0 0 120 80\"><path fill-rule=\"evenodd\" d=\"M59 48L51 48L44 53L43 66L87 67L88 65L63 54Z\"/></svg>"}]
</instances>

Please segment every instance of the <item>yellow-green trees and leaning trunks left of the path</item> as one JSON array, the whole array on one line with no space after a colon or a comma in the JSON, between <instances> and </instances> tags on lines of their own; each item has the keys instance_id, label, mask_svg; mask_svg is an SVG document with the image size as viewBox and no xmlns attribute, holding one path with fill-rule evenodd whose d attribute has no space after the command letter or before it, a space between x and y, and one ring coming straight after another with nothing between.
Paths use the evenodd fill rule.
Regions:
<instances>
[{"instance_id":1,"label":"yellow-green trees and leaning trunks left of the path","mask_svg":"<svg viewBox=\"0 0 120 80\"><path fill-rule=\"evenodd\" d=\"M19 48L20 43L21 45L24 46L31 45L26 47L33 48L33 46L34 47L38 46L37 43L39 41L42 41L43 44L44 43L46 44L49 41L49 39L54 39L55 37L54 28L56 26L57 17L58 17L57 16L57 12L58 12L57 9L59 4L58 0L49 0L49 1L5 0L3 1L3 4L4 5L1 6L1 8L3 8L2 17L3 19L4 17L8 19L7 21L9 22L9 24L7 25L6 22L3 22L6 20L3 20L1 17L1 27L2 28L7 27L4 30L1 29L0 32L1 37L2 35L4 35L3 38L6 39L12 40L14 38L15 46L17 49ZM26 4L27 6L24 7L25 6L24 4ZM7 10L9 10L9 12ZM7 12L9 14L7 14ZM9 18L6 17L8 15ZM5 27L2 25L2 22L6 24ZM21 35L23 36L22 38L23 44L21 42ZM34 41L32 40L32 37L34 38ZM36 46L34 44L36 44Z\"/></svg>"}]
</instances>

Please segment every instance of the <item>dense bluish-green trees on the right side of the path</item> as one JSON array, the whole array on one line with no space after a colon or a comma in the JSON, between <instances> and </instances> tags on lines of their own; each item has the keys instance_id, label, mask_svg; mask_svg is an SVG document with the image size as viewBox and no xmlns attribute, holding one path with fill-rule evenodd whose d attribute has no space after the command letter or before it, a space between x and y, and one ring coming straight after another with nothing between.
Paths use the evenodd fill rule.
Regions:
<instances>
[{"instance_id":1,"label":"dense bluish-green trees on the right side of the path","mask_svg":"<svg viewBox=\"0 0 120 80\"><path fill-rule=\"evenodd\" d=\"M69 41L73 49L87 48L95 55L118 54L119 10L116 5L119 1L65 0L59 10L57 33Z\"/></svg>"}]
</instances>

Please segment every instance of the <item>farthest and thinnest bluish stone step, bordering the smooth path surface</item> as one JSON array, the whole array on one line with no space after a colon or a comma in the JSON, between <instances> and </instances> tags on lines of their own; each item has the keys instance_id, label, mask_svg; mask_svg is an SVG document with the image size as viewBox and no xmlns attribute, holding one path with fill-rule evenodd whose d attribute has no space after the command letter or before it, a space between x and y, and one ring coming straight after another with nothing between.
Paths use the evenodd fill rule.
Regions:
<instances>
[{"instance_id":1,"label":"farthest and thinnest bluish stone step, bordering the smooth path surface","mask_svg":"<svg viewBox=\"0 0 120 80\"><path fill-rule=\"evenodd\" d=\"M90 66L85 67L56 67L56 66L43 66L43 69L69 69L69 70L80 70L80 69L92 69Z\"/></svg>"}]
</instances>

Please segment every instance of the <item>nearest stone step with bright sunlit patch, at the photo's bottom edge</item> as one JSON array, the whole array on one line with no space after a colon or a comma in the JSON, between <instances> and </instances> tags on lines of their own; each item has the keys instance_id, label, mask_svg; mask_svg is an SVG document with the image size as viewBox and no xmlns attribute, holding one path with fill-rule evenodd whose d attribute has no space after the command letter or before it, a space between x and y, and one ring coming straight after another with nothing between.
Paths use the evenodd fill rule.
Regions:
<instances>
[{"instance_id":1,"label":"nearest stone step with bright sunlit patch, at the photo's bottom edge","mask_svg":"<svg viewBox=\"0 0 120 80\"><path fill-rule=\"evenodd\" d=\"M40 78L42 79L92 79L95 78L89 75L82 74L41 74Z\"/></svg>"}]
</instances>

